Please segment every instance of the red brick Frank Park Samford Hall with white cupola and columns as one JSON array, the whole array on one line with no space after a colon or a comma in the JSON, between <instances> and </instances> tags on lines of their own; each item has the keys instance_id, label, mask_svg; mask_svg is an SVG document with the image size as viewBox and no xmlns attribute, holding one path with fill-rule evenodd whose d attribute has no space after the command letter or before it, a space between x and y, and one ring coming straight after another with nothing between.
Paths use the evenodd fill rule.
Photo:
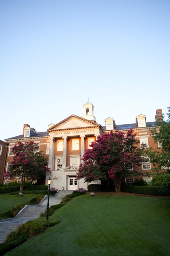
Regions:
<instances>
[{"instance_id":1,"label":"red brick Frank Park Samford Hall with white cupola and columns","mask_svg":"<svg viewBox=\"0 0 170 256\"><path fill-rule=\"evenodd\" d=\"M157 109L155 118L162 115L161 109ZM74 114L67 117L57 124L51 123L48 125L48 130L45 132L37 132L30 125L24 124L23 134L6 139L9 143L6 170L13 159L13 152L11 148L17 142L28 142L30 140L39 144L39 150L48 157L48 166L51 168L51 174L46 175L46 182L49 176L52 178L51 187L58 189L87 189L88 184L84 180L76 180L76 172L81 158L86 149L90 148L89 144L96 140L96 137L102 135L109 130L127 131L130 128L134 129L136 138L140 144L145 143L147 147L159 149L160 145L154 142L151 137L150 128L155 127L155 122L146 122L146 116L139 114L136 117L136 122L131 124L116 125L113 118L105 119L106 126L101 126L95 121L94 106L89 101L83 105L83 116L79 117ZM128 168L133 169L132 165ZM151 163L143 162L143 164L136 169L143 173L143 179L149 182L152 178L145 175L150 172ZM140 176L141 177L141 176ZM136 177L126 177L126 184L132 184ZM9 179L4 179L4 183L9 183ZM20 180L18 179L18 182ZM96 182L100 184L100 181Z\"/></svg>"}]
</instances>

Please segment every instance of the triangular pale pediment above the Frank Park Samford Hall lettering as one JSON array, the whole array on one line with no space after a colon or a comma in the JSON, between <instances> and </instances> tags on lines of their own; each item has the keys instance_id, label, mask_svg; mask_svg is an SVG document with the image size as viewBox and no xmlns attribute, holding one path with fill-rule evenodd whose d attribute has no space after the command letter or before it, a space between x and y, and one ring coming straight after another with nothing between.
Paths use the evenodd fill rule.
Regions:
<instances>
[{"instance_id":1,"label":"triangular pale pediment above the Frank Park Samford Hall lettering","mask_svg":"<svg viewBox=\"0 0 170 256\"><path fill-rule=\"evenodd\" d=\"M84 128L84 127L99 127L100 125L94 121L86 120L82 117L72 115L67 117L60 123L49 128L47 131L56 131L62 129L72 129L72 128Z\"/></svg>"}]
</instances>

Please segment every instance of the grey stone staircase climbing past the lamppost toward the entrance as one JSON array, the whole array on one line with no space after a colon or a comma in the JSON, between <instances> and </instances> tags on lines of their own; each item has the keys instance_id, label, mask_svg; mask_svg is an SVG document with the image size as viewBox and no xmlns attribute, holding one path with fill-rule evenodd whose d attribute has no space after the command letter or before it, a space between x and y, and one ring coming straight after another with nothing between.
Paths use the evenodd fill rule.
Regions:
<instances>
[{"instance_id":1,"label":"grey stone staircase climbing past the lamppost toward the entrance","mask_svg":"<svg viewBox=\"0 0 170 256\"><path fill-rule=\"evenodd\" d=\"M59 190L55 196L49 196L49 207L61 203L62 198L74 190ZM25 206L14 218L0 220L0 243L5 242L6 236L19 225L34 220L47 208L48 196L45 196L39 205Z\"/></svg>"}]
</instances>

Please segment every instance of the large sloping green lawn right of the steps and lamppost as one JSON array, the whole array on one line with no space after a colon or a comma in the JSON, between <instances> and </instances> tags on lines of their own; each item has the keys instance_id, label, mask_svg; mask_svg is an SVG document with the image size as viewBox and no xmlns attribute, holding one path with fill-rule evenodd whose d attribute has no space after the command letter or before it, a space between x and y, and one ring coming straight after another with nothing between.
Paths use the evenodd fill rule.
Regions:
<instances>
[{"instance_id":1,"label":"large sloping green lawn right of the steps and lamppost","mask_svg":"<svg viewBox=\"0 0 170 256\"><path fill-rule=\"evenodd\" d=\"M170 255L170 199L89 194L50 218L61 222L6 255Z\"/></svg>"}]
</instances>

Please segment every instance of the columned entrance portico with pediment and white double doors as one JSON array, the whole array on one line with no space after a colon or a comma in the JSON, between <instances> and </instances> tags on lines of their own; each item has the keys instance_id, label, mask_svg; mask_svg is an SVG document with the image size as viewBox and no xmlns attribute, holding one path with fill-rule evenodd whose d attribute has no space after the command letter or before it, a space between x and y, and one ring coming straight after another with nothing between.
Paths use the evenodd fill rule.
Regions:
<instances>
[{"instance_id":1,"label":"columned entrance portico with pediment and white double doors","mask_svg":"<svg viewBox=\"0 0 170 256\"><path fill-rule=\"evenodd\" d=\"M89 104L91 103L85 106L89 108ZM50 126L48 132L50 136L48 167L51 169L51 178L57 179L57 182L55 180L52 184L57 184L57 189L87 189L84 180L76 180L76 172L80 163L83 164L82 157L86 149L90 148L89 144L104 133L103 127L95 120L71 115L60 123Z\"/></svg>"}]
</instances>

